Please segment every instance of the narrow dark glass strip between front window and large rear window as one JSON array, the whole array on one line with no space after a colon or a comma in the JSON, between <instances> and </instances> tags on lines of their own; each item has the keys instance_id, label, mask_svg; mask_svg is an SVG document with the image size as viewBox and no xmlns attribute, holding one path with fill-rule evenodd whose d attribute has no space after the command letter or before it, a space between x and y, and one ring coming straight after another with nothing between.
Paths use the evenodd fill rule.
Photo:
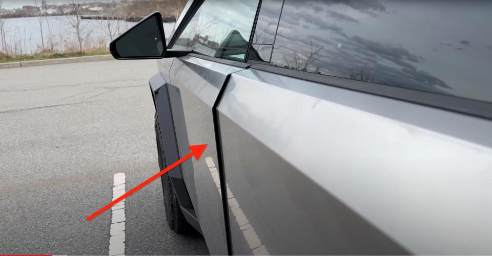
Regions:
<instances>
[{"instance_id":1,"label":"narrow dark glass strip between front window and large rear window","mask_svg":"<svg viewBox=\"0 0 492 256\"><path fill-rule=\"evenodd\" d=\"M248 59L270 62L283 0L263 0Z\"/></svg>"}]
</instances>

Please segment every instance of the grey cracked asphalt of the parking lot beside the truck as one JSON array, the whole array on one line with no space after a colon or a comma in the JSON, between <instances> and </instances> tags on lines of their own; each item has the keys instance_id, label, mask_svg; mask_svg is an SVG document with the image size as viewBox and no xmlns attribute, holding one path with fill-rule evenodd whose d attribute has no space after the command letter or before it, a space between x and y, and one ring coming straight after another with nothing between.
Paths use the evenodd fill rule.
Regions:
<instances>
[{"instance_id":1,"label":"grey cracked asphalt of the parking lot beside the truck","mask_svg":"<svg viewBox=\"0 0 492 256\"><path fill-rule=\"evenodd\" d=\"M156 62L0 69L0 254L108 254L111 213L86 217L159 171L148 79ZM126 254L208 254L167 226L160 181L126 201Z\"/></svg>"}]
</instances>

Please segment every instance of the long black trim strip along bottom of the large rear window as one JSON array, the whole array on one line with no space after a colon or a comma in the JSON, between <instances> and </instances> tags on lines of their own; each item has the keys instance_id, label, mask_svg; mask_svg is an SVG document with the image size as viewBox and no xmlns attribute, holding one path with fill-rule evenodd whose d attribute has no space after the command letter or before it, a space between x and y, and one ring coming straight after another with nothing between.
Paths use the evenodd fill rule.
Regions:
<instances>
[{"instance_id":1,"label":"long black trim strip along bottom of the large rear window","mask_svg":"<svg viewBox=\"0 0 492 256\"><path fill-rule=\"evenodd\" d=\"M485 101L442 95L436 94L434 92L413 90L391 85L364 82L305 71L298 71L295 69L272 66L269 64L250 64L251 65L249 66L249 68L258 69L260 71L288 76L324 85L365 92L367 94L382 96L385 98L416 103L428 107L450 110L462 114L472 115L478 118L492 120L492 103Z\"/></svg>"}]
</instances>

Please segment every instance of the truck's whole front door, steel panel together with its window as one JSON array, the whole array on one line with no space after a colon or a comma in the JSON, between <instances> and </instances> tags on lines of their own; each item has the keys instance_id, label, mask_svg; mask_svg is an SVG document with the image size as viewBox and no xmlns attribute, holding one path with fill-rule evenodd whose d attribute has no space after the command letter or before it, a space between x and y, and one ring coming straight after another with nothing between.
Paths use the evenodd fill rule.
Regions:
<instances>
[{"instance_id":1,"label":"truck's whole front door, steel panel together with its window","mask_svg":"<svg viewBox=\"0 0 492 256\"><path fill-rule=\"evenodd\" d=\"M195 52L174 59L167 88L178 157L189 152L188 145L208 144L199 161L182 164L182 175L211 254L229 252L215 107L230 75L247 67L244 59L257 8L257 0L205 0L191 10L194 15L169 45Z\"/></svg>"}]
</instances>

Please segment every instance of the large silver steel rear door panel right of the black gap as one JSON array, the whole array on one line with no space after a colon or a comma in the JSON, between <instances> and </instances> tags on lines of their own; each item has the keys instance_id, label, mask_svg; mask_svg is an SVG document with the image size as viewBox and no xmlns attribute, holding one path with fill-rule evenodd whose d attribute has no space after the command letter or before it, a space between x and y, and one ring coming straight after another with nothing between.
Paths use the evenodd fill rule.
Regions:
<instances>
[{"instance_id":1,"label":"large silver steel rear door panel right of the black gap","mask_svg":"<svg viewBox=\"0 0 492 256\"><path fill-rule=\"evenodd\" d=\"M492 253L492 122L254 69L218 111L227 183L269 253Z\"/></svg>"}]
</instances>

